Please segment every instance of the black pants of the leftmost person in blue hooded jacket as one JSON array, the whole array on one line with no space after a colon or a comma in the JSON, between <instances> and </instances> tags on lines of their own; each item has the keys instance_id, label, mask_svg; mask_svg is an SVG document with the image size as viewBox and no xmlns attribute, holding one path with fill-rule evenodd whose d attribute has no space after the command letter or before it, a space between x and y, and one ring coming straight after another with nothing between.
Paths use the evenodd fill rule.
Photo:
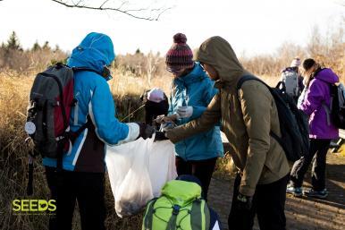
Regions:
<instances>
[{"instance_id":1,"label":"black pants of the leftmost person in blue hooded jacket","mask_svg":"<svg viewBox=\"0 0 345 230\"><path fill-rule=\"evenodd\" d=\"M76 200L82 230L105 230L105 175L63 171L46 167L46 181L56 200L56 215L49 220L50 230L71 230Z\"/></svg>"}]
</instances>

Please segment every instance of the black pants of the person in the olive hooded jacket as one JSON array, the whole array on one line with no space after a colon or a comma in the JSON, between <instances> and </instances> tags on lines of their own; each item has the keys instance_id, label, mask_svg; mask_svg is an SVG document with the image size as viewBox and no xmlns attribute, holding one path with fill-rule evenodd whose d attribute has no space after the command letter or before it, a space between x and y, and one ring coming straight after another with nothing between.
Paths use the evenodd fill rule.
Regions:
<instances>
[{"instance_id":1,"label":"black pants of the person in the olive hooded jacket","mask_svg":"<svg viewBox=\"0 0 345 230\"><path fill-rule=\"evenodd\" d=\"M286 185L289 175L268 184L258 184L250 210L238 209L237 196L240 189L240 175L237 175L233 187L231 211L228 218L229 230L249 230L253 228L254 217L262 230L285 230Z\"/></svg>"}]
</instances>

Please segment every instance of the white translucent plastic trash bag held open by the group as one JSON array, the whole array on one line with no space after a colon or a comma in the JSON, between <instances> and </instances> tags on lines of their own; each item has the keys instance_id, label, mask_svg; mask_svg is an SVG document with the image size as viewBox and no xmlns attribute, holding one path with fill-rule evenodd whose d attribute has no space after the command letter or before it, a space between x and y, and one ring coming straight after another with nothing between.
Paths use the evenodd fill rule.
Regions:
<instances>
[{"instance_id":1,"label":"white translucent plastic trash bag held open by the group","mask_svg":"<svg viewBox=\"0 0 345 230\"><path fill-rule=\"evenodd\" d=\"M154 137L108 146L105 162L119 217L138 213L177 176L173 143Z\"/></svg>"}]
</instances>

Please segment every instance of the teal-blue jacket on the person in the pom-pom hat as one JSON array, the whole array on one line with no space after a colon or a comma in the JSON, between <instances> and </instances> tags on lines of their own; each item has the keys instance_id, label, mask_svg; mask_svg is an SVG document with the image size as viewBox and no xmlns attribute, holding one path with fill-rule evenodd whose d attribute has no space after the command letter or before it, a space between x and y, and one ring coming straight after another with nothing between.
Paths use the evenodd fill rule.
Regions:
<instances>
[{"instance_id":1,"label":"teal-blue jacket on the person in the pom-pom hat","mask_svg":"<svg viewBox=\"0 0 345 230\"><path fill-rule=\"evenodd\" d=\"M189 74L173 80L169 115L175 114L178 106L193 106L193 114L189 118L178 119L177 124L189 123L203 114L206 106L218 92L214 88L214 83L198 63ZM219 126L177 142L175 151L177 156L184 160L223 157L223 142Z\"/></svg>"}]
</instances>

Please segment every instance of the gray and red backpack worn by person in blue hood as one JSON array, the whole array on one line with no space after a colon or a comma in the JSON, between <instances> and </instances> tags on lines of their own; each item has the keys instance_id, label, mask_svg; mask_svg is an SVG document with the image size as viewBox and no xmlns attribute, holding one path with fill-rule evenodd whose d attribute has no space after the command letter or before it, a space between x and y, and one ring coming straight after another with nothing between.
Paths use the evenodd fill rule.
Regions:
<instances>
[{"instance_id":1,"label":"gray and red backpack worn by person in blue hood","mask_svg":"<svg viewBox=\"0 0 345 230\"><path fill-rule=\"evenodd\" d=\"M25 131L33 141L35 151L42 157L62 158L63 152L69 150L88 125L84 124L77 132L70 132L71 110L76 103L73 98L73 75L76 71L96 72L55 64L45 72L39 72L33 82Z\"/></svg>"}]
</instances>

